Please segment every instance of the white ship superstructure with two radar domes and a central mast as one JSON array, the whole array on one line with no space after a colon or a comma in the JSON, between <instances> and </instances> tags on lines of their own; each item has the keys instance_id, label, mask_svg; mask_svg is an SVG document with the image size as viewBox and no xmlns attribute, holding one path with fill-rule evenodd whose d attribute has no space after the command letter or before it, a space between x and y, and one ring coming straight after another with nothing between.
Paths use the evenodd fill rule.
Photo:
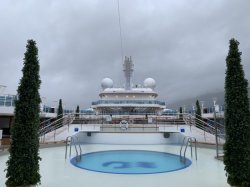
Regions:
<instances>
[{"instance_id":1,"label":"white ship superstructure with two radar domes and a central mast","mask_svg":"<svg viewBox=\"0 0 250 187\"><path fill-rule=\"evenodd\" d=\"M166 108L165 102L157 100L156 82L146 78L143 86L133 85L134 64L131 57L125 57L123 64L124 87L113 87L113 80L104 78L101 82L100 100L92 102L97 114L160 114Z\"/></svg>"}]
</instances>

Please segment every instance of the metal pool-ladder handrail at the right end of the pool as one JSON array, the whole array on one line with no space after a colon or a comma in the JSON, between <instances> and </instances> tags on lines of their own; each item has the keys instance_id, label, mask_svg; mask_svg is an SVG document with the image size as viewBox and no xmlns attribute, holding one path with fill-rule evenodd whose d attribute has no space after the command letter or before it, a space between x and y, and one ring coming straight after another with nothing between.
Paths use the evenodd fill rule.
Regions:
<instances>
[{"instance_id":1,"label":"metal pool-ladder handrail at the right end of the pool","mask_svg":"<svg viewBox=\"0 0 250 187\"><path fill-rule=\"evenodd\" d=\"M186 143L185 143L185 140L186 140ZM193 158L193 142L195 145L195 159L197 160L197 146L196 146L197 141L196 141L196 138L190 137L190 136L185 136L183 138L183 142L182 142L181 149L180 149L180 161L181 162L186 163L186 151L187 151L188 144L190 145L190 149L191 149L191 158ZM185 149L184 149L184 153L183 153L183 157L182 157L183 146L185 146Z\"/></svg>"}]
</instances>

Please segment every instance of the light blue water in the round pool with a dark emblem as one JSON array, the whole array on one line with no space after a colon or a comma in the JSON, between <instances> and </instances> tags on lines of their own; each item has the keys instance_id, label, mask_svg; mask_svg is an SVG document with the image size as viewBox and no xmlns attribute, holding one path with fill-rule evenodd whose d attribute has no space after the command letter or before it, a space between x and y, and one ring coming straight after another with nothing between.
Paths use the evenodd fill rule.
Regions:
<instances>
[{"instance_id":1,"label":"light blue water in the round pool with a dark emblem","mask_svg":"<svg viewBox=\"0 0 250 187\"><path fill-rule=\"evenodd\" d=\"M78 158L79 159L79 158ZM113 174L153 174L172 172L191 165L191 160L180 161L179 155L144 150L111 150L91 152L71 159L82 169Z\"/></svg>"}]
</instances>

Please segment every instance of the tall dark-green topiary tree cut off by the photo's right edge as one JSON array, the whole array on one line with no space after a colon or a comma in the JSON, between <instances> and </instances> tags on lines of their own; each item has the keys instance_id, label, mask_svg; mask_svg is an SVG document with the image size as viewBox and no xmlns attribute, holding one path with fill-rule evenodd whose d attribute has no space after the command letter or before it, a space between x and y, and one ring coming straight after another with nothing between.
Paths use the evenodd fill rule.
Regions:
<instances>
[{"instance_id":1,"label":"tall dark-green topiary tree cut off by the photo's right edge","mask_svg":"<svg viewBox=\"0 0 250 187\"><path fill-rule=\"evenodd\" d=\"M250 186L250 111L248 81L241 65L239 42L230 40L226 58L224 164L232 186Z\"/></svg>"}]
</instances>

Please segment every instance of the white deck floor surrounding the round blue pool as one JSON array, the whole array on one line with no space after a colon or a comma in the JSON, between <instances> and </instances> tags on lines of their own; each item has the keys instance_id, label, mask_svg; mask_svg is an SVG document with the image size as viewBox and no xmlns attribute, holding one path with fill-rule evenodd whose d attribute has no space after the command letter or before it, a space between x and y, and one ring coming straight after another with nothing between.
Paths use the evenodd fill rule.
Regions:
<instances>
[{"instance_id":1,"label":"white deck floor surrounding the round blue pool","mask_svg":"<svg viewBox=\"0 0 250 187\"><path fill-rule=\"evenodd\" d=\"M136 149L179 154L173 145L101 145L83 146L84 153L99 150ZM190 167L169 173L124 175L82 170L64 159L65 147L40 149L42 187L228 187L222 161L214 159L215 150L198 148L198 160ZM187 152L190 158L190 153ZM5 186L8 155L0 156L0 186Z\"/></svg>"}]
</instances>

